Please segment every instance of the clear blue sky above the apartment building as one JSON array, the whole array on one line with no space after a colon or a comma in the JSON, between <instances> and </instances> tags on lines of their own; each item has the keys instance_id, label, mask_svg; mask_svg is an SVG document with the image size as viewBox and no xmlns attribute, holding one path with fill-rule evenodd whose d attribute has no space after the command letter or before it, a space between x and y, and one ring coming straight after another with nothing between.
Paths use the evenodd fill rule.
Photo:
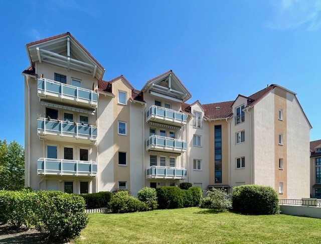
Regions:
<instances>
[{"instance_id":1,"label":"clear blue sky above the apartment building","mask_svg":"<svg viewBox=\"0 0 321 244\"><path fill-rule=\"evenodd\" d=\"M25 44L67 31L136 89L170 69L190 102L284 86L321 139L320 1L4 1L0 20L0 140L24 144Z\"/></svg>"}]
</instances>

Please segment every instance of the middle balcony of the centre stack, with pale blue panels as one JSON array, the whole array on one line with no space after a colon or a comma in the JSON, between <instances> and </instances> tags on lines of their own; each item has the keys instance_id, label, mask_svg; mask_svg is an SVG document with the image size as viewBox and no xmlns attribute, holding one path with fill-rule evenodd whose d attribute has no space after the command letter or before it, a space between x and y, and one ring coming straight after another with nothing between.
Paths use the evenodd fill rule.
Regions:
<instances>
[{"instance_id":1,"label":"middle balcony of the centre stack, with pale blue panels","mask_svg":"<svg viewBox=\"0 0 321 244\"><path fill-rule=\"evenodd\" d=\"M146 140L147 151L184 153L186 152L186 147L187 143L185 141L169 137L152 135Z\"/></svg>"}]
</instances>

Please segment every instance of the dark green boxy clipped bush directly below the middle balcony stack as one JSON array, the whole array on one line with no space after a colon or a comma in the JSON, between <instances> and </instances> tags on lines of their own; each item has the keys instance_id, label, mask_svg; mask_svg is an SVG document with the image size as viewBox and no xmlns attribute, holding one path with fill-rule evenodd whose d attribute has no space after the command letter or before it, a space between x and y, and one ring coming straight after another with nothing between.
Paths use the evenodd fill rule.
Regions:
<instances>
[{"instance_id":1,"label":"dark green boxy clipped bush directly below the middle balcony stack","mask_svg":"<svg viewBox=\"0 0 321 244\"><path fill-rule=\"evenodd\" d=\"M156 188L158 208L181 208L184 207L183 192L176 186L161 186Z\"/></svg>"}]
</instances>

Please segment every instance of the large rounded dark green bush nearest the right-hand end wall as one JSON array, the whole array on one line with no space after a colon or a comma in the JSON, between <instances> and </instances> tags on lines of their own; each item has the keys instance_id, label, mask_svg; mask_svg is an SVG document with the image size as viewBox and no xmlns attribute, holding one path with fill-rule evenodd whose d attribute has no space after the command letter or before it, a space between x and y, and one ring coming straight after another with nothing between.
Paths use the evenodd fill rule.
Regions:
<instances>
[{"instance_id":1,"label":"large rounded dark green bush nearest the right-hand end wall","mask_svg":"<svg viewBox=\"0 0 321 244\"><path fill-rule=\"evenodd\" d=\"M234 187L232 206L234 210L241 213L279 213L278 195L270 186L242 185Z\"/></svg>"}]
</instances>

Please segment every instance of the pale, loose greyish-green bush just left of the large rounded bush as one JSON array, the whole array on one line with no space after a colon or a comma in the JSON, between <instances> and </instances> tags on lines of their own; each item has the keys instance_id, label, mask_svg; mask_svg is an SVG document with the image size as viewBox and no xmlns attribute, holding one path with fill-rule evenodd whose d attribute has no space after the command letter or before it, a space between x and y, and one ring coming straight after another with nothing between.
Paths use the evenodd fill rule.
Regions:
<instances>
[{"instance_id":1,"label":"pale, loose greyish-green bush just left of the large rounded bush","mask_svg":"<svg viewBox=\"0 0 321 244\"><path fill-rule=\"evenodd\" d=\"M221 212L230 209L232 207L232 203L224 189L212 188L210 191L207 191L201 207L212 208Z\"/></svg>"}]
</instances>

